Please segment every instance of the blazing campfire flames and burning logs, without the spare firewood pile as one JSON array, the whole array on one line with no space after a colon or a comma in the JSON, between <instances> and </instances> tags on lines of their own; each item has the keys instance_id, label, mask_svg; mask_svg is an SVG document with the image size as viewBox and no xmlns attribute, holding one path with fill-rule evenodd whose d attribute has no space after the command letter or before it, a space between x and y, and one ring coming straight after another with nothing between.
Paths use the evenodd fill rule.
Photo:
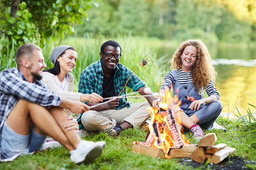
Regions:
<instances>
[{"instance_id":1,"label":"blazing campfire flames and burning logs, without the spare firewood pile","mask_svg":"<svg viewBox=\"0 0 256 170\"><path fill-rule=\"evenodd\" d=\"M175 118L175 112L180 110L178 97L171 97L170 91L166 92L166 96L160 101L158 108L148 108L151 121L148 125L148 134L145 142L137 142L135 145L155 147L162 150L164 157L170 157L170 150L181 149L187 150L189 147L190 154L195 150L195 145L190 145L189 140L181 133L180 119ZM179 150L181 151L181 150ZM187 156L187 155L185 155ZM176 156L175 156L176 157ZM180 157L183 157L180 155Z\"/></svg>"}]
</instances>

